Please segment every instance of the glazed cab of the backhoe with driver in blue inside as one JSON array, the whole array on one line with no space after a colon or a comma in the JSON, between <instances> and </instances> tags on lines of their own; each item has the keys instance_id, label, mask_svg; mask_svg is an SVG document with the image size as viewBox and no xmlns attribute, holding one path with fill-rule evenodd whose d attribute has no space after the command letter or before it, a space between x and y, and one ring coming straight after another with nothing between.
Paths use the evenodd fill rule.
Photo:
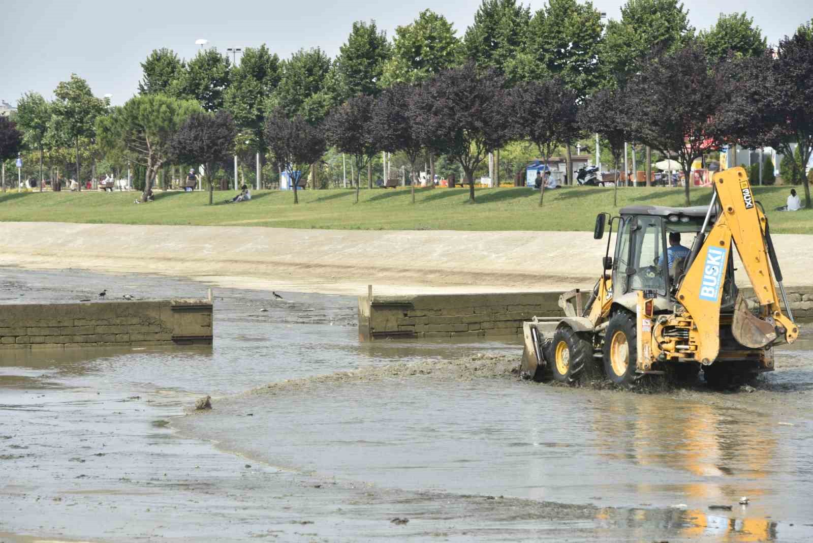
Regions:
<instances>
[{"instance_id":1,"label":"glazed cab of the backhoe with driver in blue inside","mask_svg":"<svg viewBox=\"0 0 813 543\"><path fill-rule=\"evenodd\" d=\"M611 272L613 302L634 311L637 291L644 291L647 298L654 299L656 311L672 311L677 286L687 269L707 212L707 206L622 208L620 216L611 219L611 230L616 221L618 228L615 254L610 258L611 241L608 239L604 258L605 271ZM606 217L602 214L596 220L597 237L602 237L598 234L603 233ZM712 213L706 233L714 220L715 214ZM729 258L726 278L731 285L732 264ZM725 295L731 285L726 285L728 288L724 290L724 305L728 299L733 302L730 292Z\"/></svg>"}]
</instances>

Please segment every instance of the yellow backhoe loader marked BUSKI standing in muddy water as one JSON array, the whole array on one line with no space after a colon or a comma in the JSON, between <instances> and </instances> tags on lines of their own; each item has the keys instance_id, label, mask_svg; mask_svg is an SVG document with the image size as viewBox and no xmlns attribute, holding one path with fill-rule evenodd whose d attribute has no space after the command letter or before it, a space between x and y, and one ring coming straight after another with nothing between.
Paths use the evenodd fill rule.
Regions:
<instances>
[{"instance_id":1,"label":"yellow backhoe loader marked BUSKI standing in muddy water","mask_svg":"<svg viewBox=\"0 0 813 543\"><path fill-rule=\"evenodd\" d=\"M693 379L702 369L709 385L727 388L773 370L773 346L795 341L798 326L767 217L743 168L716 173L713 185L708 206L598 215L593 237L610 227L604 272L589 296L574 290L559 298L564 318L524 323L524 376L573 383L602 372L629 387L647 374ZM691 248L680 244L691 236ZM757 306L735 285L734 247ZM541 324L550 320L558 324L546 338Z\"/></svg>"}]
</instances>

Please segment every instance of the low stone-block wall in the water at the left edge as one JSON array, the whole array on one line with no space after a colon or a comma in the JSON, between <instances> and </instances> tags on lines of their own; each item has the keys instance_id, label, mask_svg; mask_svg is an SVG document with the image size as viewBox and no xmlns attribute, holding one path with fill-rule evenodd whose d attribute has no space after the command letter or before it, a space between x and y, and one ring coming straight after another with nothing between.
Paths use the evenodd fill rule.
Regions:
<instances>
[{"instance_id":1,"label":"low stone-block wall in the water at the left edge","mask_svg":"<svg viewBox=\"0 0 813 543\"><path fill-rule=\"evenodd\" d=\"M211 345L211 339L207 299L0 305L0 349Z\"/></svg>"}]
</instances>

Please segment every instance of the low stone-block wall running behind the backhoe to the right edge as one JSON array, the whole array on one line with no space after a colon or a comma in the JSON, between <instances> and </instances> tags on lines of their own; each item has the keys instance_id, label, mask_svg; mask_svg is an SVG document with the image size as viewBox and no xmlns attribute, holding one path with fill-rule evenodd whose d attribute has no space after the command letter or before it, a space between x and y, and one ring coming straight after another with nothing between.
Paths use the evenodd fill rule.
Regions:
<instances>
[{"instance_id":1,"label":"low stone-block wall running behind the backhoe to the right edge","mask_svg":"<svg viewBox=\"0 0 813 543\"><path fill-rule=\"evenodd\" d=\"M753 289L742 289L746 298ZM813 321L813 288L787 289L793 318ZM493 294L360 296L359 337L489 337L522 335L522 323L563 316L561 291ZM585 301L589 292L585 292Z\"/></svg>"}]
</instances>

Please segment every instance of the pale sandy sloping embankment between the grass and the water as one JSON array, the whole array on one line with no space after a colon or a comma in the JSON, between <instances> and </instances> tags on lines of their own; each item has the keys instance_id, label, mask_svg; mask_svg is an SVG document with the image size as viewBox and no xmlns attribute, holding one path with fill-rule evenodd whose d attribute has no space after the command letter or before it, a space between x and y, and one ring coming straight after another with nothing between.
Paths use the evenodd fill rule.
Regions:
<instances>
[{"instance_id":1,"label":"pale sandy sloping embankment between the grass and the water","mask_svg":"<svg viewBox=\"0 0 813 543\"><path fill-rule=\"evenodd\" d=\"M774 236L785 282L813 285L813 236ZM350 231L0 223L0 266L185 276L224 287L360 294L592 286L591 232ZM740 280L746 280L741 274ZM738 281L739 282L739 281Z\"/></svg>"}]
</instances>

